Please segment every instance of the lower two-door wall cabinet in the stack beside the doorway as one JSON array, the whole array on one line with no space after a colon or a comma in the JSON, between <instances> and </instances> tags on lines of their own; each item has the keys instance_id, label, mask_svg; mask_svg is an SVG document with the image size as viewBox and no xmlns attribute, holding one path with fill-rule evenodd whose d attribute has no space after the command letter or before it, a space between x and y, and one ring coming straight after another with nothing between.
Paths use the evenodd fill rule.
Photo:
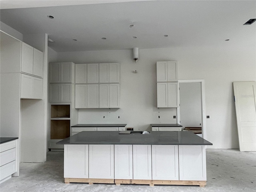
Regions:
<instances>
[{"instance_id":1,"label":"lower two-door wall cabinet in the stack beside the doorway","mask_svg":"<svg viewBox=\"0 0 256 192\"><path fill-rule=\"evenodd\" d=\"M157 83L157 107L178 107L178 82Z\"/></svg>"}]
</instances>

